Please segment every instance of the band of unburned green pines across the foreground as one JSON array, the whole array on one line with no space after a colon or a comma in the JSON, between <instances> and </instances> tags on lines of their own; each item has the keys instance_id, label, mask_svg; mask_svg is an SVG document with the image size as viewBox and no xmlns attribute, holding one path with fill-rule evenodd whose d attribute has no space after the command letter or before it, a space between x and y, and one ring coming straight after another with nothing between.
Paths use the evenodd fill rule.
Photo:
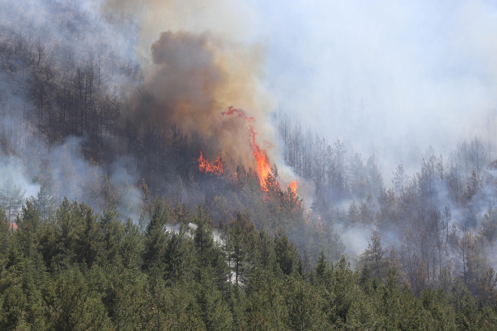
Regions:
<instances>
[{"instance_id":1,"label":"band of unburned green pines across the foreground","mask_svg":"<svg viewBox=\"0 0 497 331\"><path fill-rule=\"evenodd\" d=\"M98 215L68 199L53 218L26 200L16 230L3 216L1 330L495 330L492 268L478 297L446 268L440 290L416 296L398 264L382 280L374 263L354 272L321 251L306 270L288 237L258 233L248 214L220 243L202 206L186 218L195 229L166 231L173 209L156 200L144 233L111 207Z\"/></svg>"}]
</instances>

